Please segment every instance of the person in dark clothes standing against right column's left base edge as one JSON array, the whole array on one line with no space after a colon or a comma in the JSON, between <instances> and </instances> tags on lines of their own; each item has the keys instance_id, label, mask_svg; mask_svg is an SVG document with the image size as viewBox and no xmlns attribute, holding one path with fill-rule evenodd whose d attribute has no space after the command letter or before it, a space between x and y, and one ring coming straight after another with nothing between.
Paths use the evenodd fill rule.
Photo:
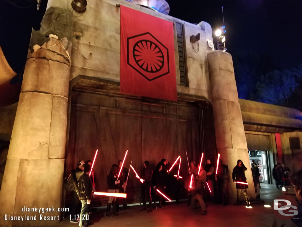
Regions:
<instances>
[{"instance_id":1,"label":"person in dark clothes standing against right column's left base edge","mask_svg":"<svg viewBox=\"0 0 302 227\"><path fill-rule=\"evenodd\" d=\"M223 206L227 206L228 205L228 196L226 193L226 178L228 176L229 167L227 165L223 165L222 163L223 163L223 161L220 159L217 175L215 174L215 180L218 185L219 200L221 201L221 199L222 199Z\"/></svg>"}]
</instances>

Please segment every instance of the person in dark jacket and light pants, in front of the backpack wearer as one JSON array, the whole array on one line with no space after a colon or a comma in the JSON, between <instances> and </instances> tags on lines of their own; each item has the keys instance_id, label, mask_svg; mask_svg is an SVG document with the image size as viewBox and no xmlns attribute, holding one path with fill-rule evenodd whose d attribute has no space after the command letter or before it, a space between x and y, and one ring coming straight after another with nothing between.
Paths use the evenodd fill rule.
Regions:
<instances>
[{"instance_id":1,"label":"person in dark jacket and light pants, in front of the backpack wearer","mask_svg":"<svg viewBox=\"0 0 302 227\"><path fill-rule=\"evenodd\" d=\"M87 226L88 220L88 205L91 202L92 196L92 183L89 178L91 166L84 164L84 174L79 179L79 200L82 202L82 210L80 214L80 223L79 226Z\"/></svg>"}]
</instances>

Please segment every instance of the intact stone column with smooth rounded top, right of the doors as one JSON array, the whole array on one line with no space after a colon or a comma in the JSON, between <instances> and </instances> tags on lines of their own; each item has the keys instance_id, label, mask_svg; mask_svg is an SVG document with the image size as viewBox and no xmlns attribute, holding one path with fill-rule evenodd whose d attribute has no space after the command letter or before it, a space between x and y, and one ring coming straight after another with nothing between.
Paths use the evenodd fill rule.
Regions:
<instances>
[{"instance_id":1,"label":"intact stone column with smooth rounded top, right of the doors","mask_svg":"<svg viewBox=\"0 0 302 227\"><path fill-rule=\"evenodd\" d=\"M249 164L246 137L238 100L232 56L223 51L207 54L210 88L212 95L214 127L217 151L223 163L229 166L228 191L230 202L237 199L235 183L232 180L233 168L241 159L246 166L245 172L249 183L249 197L255 199L252 171ZM243 199L242 195L242 199Z\"/></svg>"}]
</instances>

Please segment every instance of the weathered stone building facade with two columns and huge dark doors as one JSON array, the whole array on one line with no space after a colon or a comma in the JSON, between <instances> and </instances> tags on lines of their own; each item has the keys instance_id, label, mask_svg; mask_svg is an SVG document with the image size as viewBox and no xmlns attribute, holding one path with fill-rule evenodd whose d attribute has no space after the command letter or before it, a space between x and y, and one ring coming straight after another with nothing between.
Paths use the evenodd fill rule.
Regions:
<instances>
[{"instance_id":1,"label":"weathered stone building facade with two columns and huge dark doors","mask_svg":"<svg viewBox=\"0 0 302 227\"><path fill-rule=\"evenodd\" d=\"M173 22L177 102L120 93L119 5ZM196 52L190 36L198 33ZM70 0L49 0L41 29L32 34L13 127L14 114L5 117L11 110L0 111L0 119L12 127L10 135L0 125L3 141L10 137L0 192L4 208L0 225L52 225L54 221L4 221L4 215L24 215L24 206L62 207L63 178L78 160L93 159L96 149L94 169L101 191L106 190L111 165L126 150L127 164L132 160L137 170L145 160L154 167L162 158L173 162L181 155L185 159L186 150L189 161L200 160L204 152L216 163L220 153L231 170L238 159L248 166L249 134L270 137L273 161L277 157L273 133L281 133L282 150L290 152L288 138L299 137L299 143L302 139L297 132L301 121L294 120L294 115L302 113L284 107L293 114L284 112L281 119L275 116L278 113L260 107L267 119L275 116L275 124L245 114L255 115L259 109L238 99L232 57L209 47L212 40L212 28L204 21L190 24L123 0L92 0L84 13L73 11ZM297 169L299 163L295 165ZM187 168L183 162L183 173ZM255 199L251 169L246 176L249 195ZM228 179L230 202L234 202L235 184ZM130 181L133 194L129 199L140 202L140 182L134 175ZM62 213L47 215L61 217Z\"/></svg>"}]
</instances>

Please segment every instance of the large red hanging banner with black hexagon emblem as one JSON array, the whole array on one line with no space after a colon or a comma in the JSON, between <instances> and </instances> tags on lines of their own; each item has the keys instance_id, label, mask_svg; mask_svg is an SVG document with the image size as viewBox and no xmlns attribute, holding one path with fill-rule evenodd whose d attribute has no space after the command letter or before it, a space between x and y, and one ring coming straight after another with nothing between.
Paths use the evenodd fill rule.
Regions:
<instances>
[{"instance_id":1,"label":"large red hanging banner with black hexagon emblem","mask_svg":"<svg viewBox=\"0 0 302 227\"><path fill-rule=\"evenodd\" d=\"M172 22L120 6L120 92L177 101Z\"/></svg>"}]
</instances>

